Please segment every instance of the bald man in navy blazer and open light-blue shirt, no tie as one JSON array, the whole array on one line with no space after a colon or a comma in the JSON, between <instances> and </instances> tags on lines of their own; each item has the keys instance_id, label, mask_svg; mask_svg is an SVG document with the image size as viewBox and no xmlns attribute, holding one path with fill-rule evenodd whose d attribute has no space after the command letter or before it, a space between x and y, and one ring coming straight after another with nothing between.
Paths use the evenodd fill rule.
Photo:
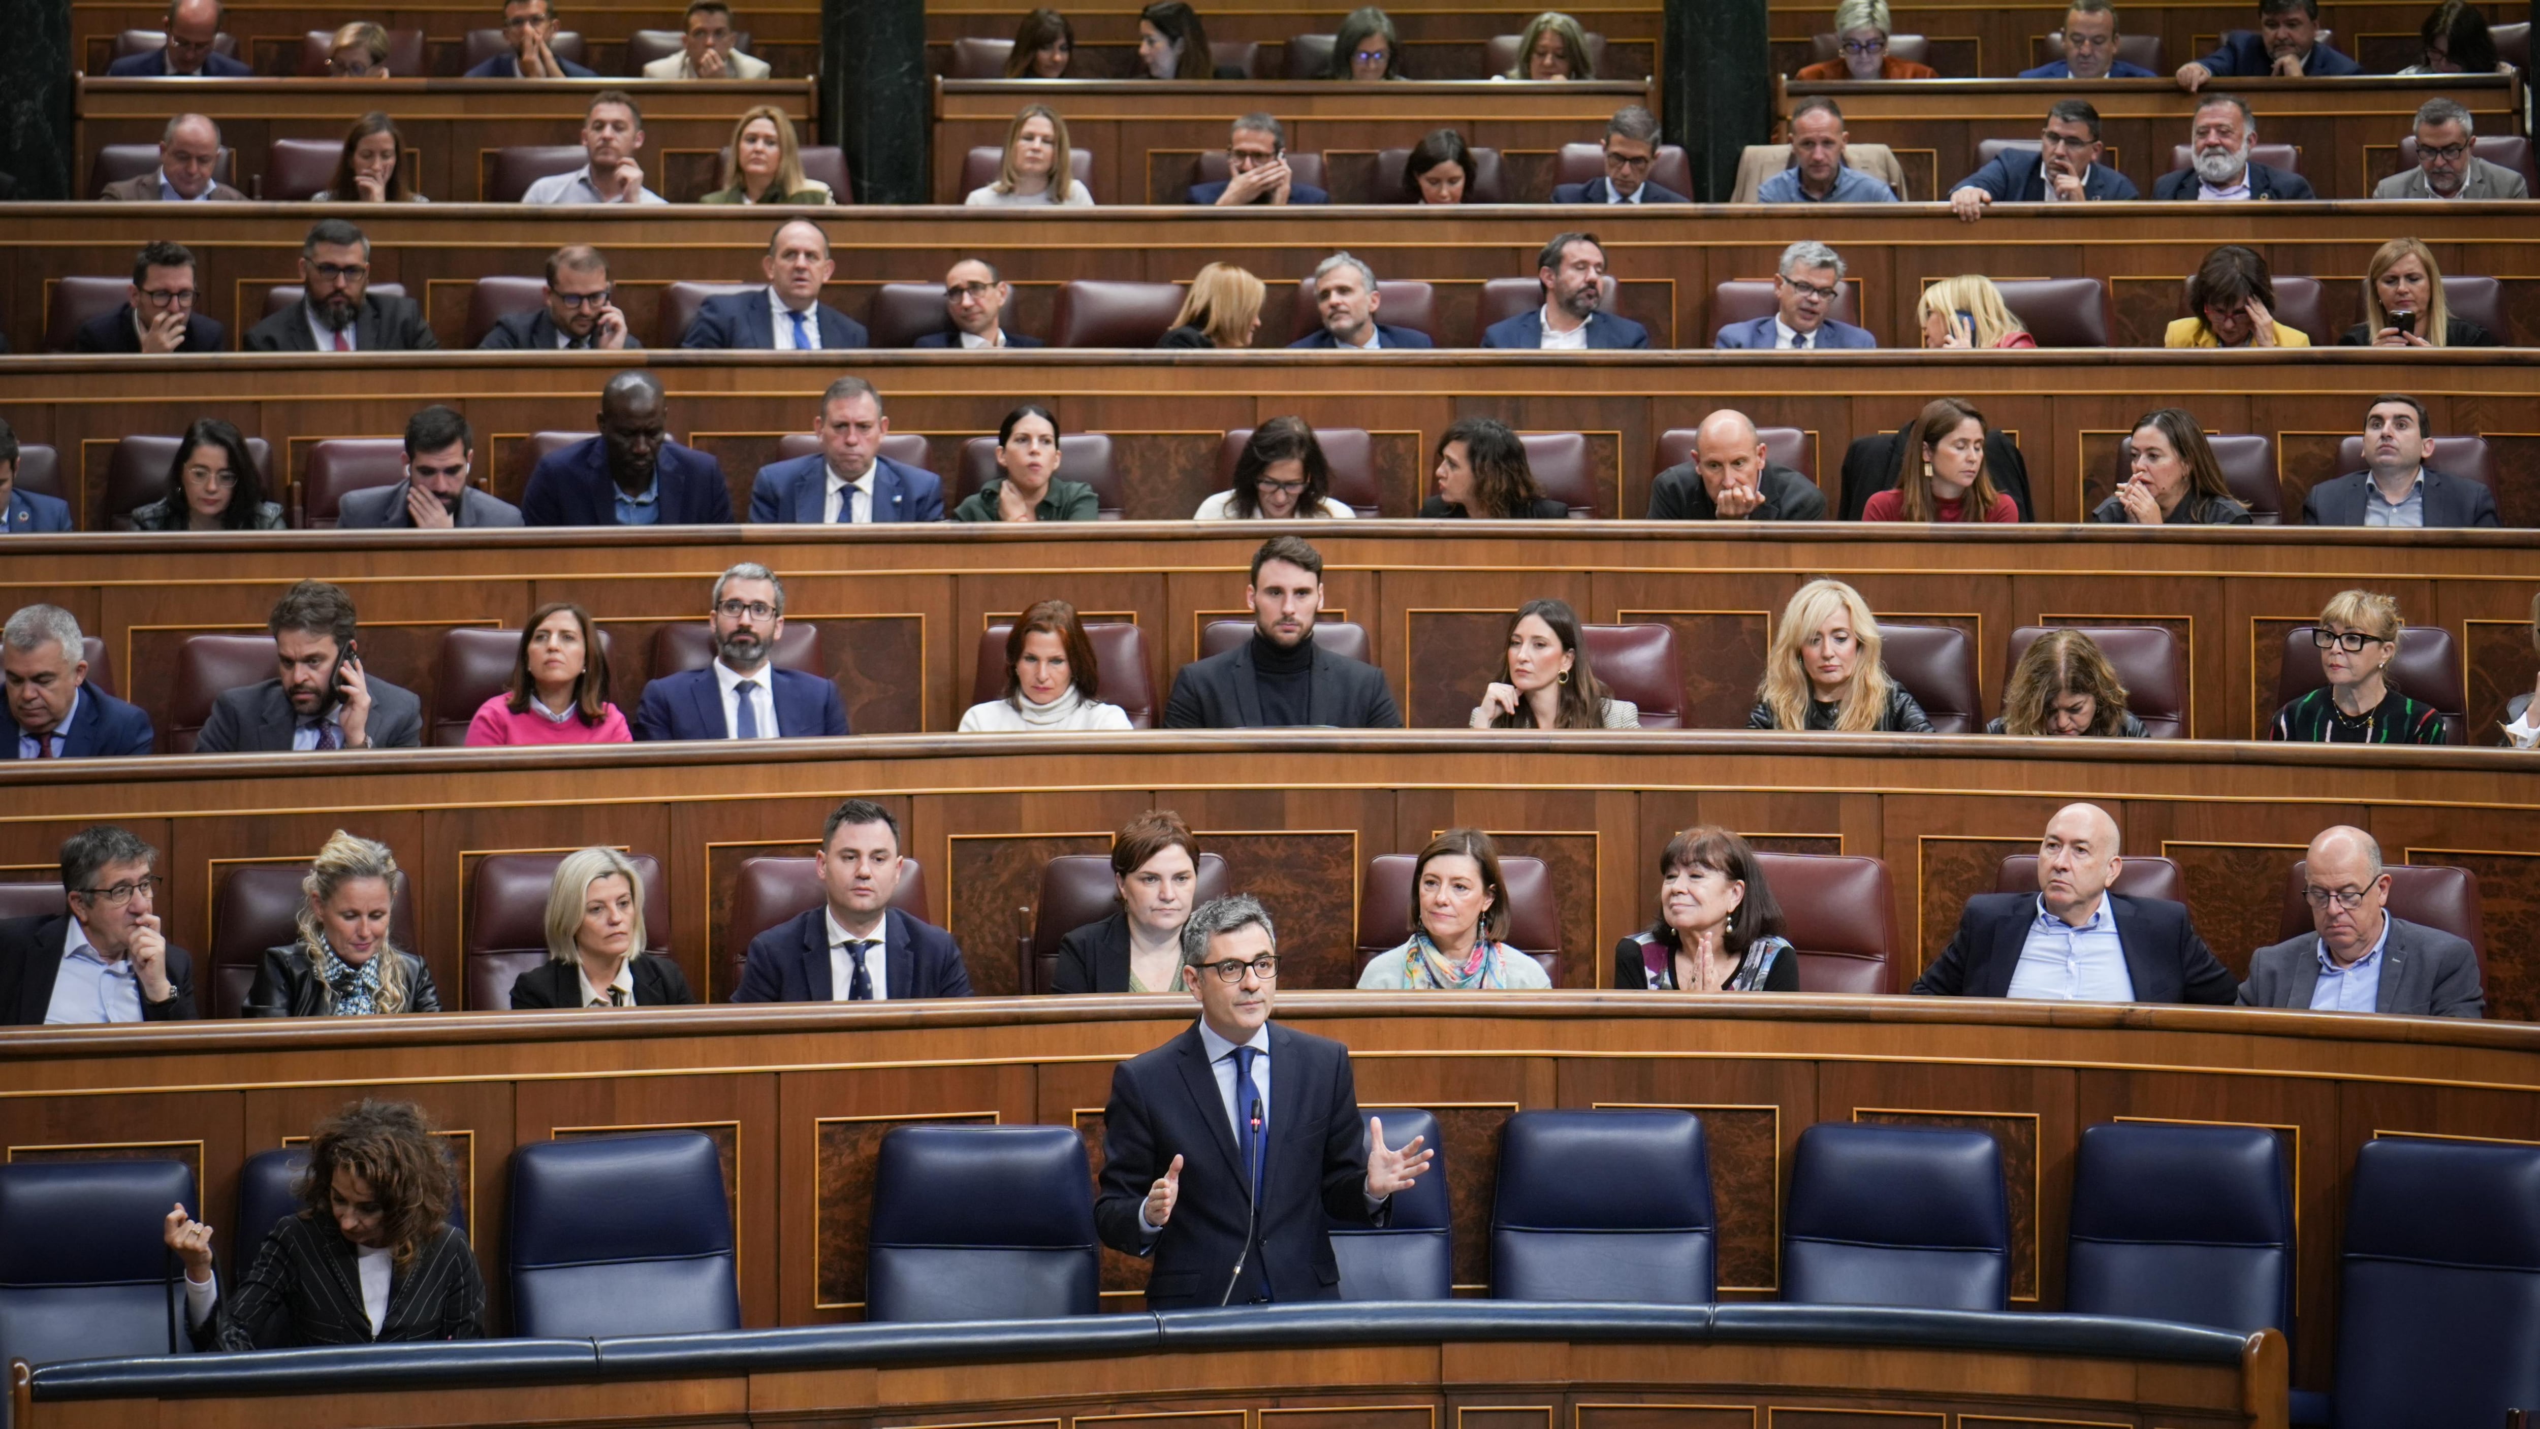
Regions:
<instances>
[{"instance_id":1,"label":"bald man in navy blazer and open light-blue shirt, no tie","mask_svg":"<svg viewBox=\"0 0 2540 1429\"><path fill-rule=\"evenodd\" d=\"M2065 805L2037 840L2037 893L1979 893L1958 934L1915 980L1941 998L2228 1005L2240 982L2184 904L2111 893L2118 830L2098 805Z\"/></svg>"}]
</instances>

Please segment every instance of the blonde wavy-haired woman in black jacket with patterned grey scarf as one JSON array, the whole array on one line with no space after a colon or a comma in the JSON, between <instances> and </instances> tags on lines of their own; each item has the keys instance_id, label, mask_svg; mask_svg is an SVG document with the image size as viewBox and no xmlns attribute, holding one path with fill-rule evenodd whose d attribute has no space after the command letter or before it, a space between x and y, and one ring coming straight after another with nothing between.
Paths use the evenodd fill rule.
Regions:
<instances>
[{"instance_id":1,"label":"blonde wavy-haired woman in black jacket with patterned grey scarf","mask_svg":"<svg viewBox=\"0 0 2540 1429\"><path fill-rule=\"evenodd\" d=\"M300 942L264 949L246 990L249 1018L366 1018L439 1013L432 970L389 942L396 855L335 830L300 881Z\"/></svg>"}]
</instances>

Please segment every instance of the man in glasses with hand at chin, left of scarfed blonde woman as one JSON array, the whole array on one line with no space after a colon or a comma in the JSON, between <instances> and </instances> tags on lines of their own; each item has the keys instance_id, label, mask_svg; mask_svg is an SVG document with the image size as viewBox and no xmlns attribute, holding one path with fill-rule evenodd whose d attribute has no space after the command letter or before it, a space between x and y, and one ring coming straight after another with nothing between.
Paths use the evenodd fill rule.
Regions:
<instances>
[{"instance_id":1,"label":"man in glasses with hand at chin, left of scarfed blonde woman","mask_svg":"<svg viewBox=\"0 0 2540 1429\"><path fill-rule=\"evenodd\" d=\"M160 934L157 850L114 825L61 843L69 914L0 921L0 1025L170 1023L193 1005L193 957Z\"/></svg>"}]
</instances>

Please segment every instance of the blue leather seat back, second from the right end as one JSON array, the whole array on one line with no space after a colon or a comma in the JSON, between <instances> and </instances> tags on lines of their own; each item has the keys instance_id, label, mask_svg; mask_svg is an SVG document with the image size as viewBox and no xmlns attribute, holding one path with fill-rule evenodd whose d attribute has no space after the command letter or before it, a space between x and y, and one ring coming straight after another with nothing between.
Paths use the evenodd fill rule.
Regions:
<instances>
[{"instance_id":1,"label":"blue leather seat back, second from the right end","mask_svg":"<svg viewBox=\"0 0 2540 1429\"><path fill-rule=\"evenodd\" d=\"M2065 1310L2294 1330L2294 1178L2266 1127L2080 1135Z\"/></svg>"}]
</instances>

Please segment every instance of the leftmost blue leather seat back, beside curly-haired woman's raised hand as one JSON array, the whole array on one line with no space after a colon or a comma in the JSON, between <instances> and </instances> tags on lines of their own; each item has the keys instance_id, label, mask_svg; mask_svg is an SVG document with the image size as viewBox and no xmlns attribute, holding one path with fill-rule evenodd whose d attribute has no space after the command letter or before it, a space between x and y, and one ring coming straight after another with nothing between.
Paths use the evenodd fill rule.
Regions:
<instances>
[{"instance_id":1,"label":"leftmost blue leather seat back, beside curly-haired woman's raised hand","mask_svg":"<svg viewBox=\"0 0 2540 1429\"><path fill-rule=\"evenodd\" d=\"M0 1366L183 1350L160 1239L178 1203L203 1206L175 1160L0 1165Z\"/></svg>"}]
</instances>

